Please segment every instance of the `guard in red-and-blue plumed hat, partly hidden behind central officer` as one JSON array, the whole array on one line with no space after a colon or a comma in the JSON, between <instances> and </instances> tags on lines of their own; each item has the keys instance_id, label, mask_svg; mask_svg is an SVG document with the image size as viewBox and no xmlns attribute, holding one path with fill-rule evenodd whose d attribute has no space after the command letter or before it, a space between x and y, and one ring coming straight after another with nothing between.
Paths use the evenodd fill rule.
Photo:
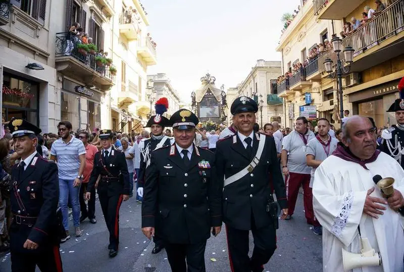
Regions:
<instances>
[{"instance_id":1,"label":"guard in red-and-blue plumed hat, partly hidden behind central officer","mask_svg":"<svg viewBox=\"0 0 404 272\"><path fill-rule=\"evenodd\" d=\"M156 115L151 116L145 126L151 128L151 137L142 139L139 143L140 168L139 176L137 177L139 186L137 193L139 197L143 197L146 168L150 164L151 153L156 149L171 145L171 139L163 133L164 127L171 126L170 121L163 116L163 113L168 109L167 98L163 97L159 99L155 104L155 109ZM151 254L157 254L164 248L164 243L159 236L159 230L157 230L156 235L153 237L153 241L155 242L155 247L151 251Z\"/></svg>"}]
</instances>

